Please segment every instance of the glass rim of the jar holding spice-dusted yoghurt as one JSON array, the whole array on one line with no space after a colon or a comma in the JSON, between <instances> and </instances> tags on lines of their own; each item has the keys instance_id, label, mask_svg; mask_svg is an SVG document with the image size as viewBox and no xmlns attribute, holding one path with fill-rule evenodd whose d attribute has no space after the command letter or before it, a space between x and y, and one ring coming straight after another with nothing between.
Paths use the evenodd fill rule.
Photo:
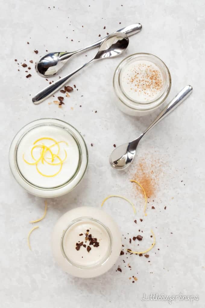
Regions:
<instances>
[{"instance_id":1,"label":"glass rim of the jar holding spice-dusted yoghurt","mask_svg":"<svg viewBox=\"0 0 205 308\"><path fill-rule=\"evenodd\" d=\"M132 59L139 57L139 56L151 57L152 59L159 61L164 66L164 69L166 70L166 74L168 78L168 88L167 89L165 88L164 91L160 94L160 96L158 96L156 99L153 99L149 102L143 102L143 103L140 101L134 100L128 95L126 95L125 91L122 89L120 85L120 73L122 69L128 63L128 60L131 61ZM148 60L148 59L144 59L144 60ZM152 62L151 59L149 59L149 61ZM135 53L132 55L128 55L126 58L120 61L120 63L117 65L114 75L113 75L113 87L114 87L115 93L118 99L120 100L120 102L126 105L127 107L129 107L130 109L140 110L140 111L152 110L152 109L156 109L157 107L159 107L164 102L164 100L168 97L169 92L171 90L171 75L170 75L169 69L166 66L166 64L156 55L145 53L145 52Z\"/></svg>"}]
</instances>

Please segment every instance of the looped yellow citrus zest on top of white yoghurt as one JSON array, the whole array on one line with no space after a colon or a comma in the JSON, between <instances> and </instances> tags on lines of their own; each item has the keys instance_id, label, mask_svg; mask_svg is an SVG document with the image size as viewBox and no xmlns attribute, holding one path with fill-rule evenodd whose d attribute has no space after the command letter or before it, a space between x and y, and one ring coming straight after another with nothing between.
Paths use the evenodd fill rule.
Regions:
<instances>
[{"instance_id":1,"label":"looped yellow citrus zest on top of white yoghurt","mask_svg":"<svg viewBox=\"0 0 205 308\"><path fill-rule=\"evenodd\" d=\"M37 142L39 142L39 141L41 141L41 140L51 140L51 141L54 142L54 144L51 144L49 147L47 147L47 146L44 145L44 144L37 144ZM65 143L66 145L68 145L67 142L65 142L65 141L56 141L55 139L49 138L49 137L39 138L39 139L37 139L37 140L34 142L34 146L33 146L33 148L31 149L31 157L32 157L32 159L34 160L34 162L33 162L33 163L30 163L29 161L27 161L27 160L24 158L24 154L23 154L23 160L25 161L26 164L29 164L29 165L36 165L37 172L38 172L39 174L41 174L42 176L45 176L45 177L53 177L53 176L56 176L56 175L61 171L61 169L62 169L62 164L63 164L63 162L64 162L64 161L66 160L66 158L67 158L67 152L65 151L65 149L64 149L64 151L65 151L65 158L62 160L62 159L59 157L59 152L60 152L60 146L59 146L59 144L60 144L60 143ZM57 147L58 147L57 153L53 153L52 150L51 150L51 148L54 147L54 146L57 146ZM33 154L33 151L34 151L35 148L40 148L40 157L39 157L38 159L35 159L34 154ZM45 154L46 154L47 152L49 152L49 153L51 154L51 157L45 157ZM54 162L53 162L54 159L56 159L56 158L57 158L57 160L59 160L58 163L54 163ZM48 159L50 159L51 162L49 162ZM46 175L46 174L42 173L42 172L39 170L38 166L37 166L38 163L39 163L40 161L41 161L42 164L44 164L44 162L46 162L47 164L53 165L53 166L60 165L60 169L59 169L56 173L54 173L54 174L52 174L52 175Z\"/></svg>"}]
</instances>

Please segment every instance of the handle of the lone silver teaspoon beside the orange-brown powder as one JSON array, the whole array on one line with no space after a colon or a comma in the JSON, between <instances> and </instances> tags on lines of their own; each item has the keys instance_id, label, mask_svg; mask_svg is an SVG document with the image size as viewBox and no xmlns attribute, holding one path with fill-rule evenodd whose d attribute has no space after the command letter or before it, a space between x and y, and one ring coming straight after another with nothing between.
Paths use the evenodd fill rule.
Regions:
<instances>
[{"instance_id":1,"label":"handle of the lone silver teaspoon beside the orange-brown powder","mask_svg":"<svg viewBox=\"0 0 205 308\"><path fill-rule=\"evenodd\" d=\"M160 120L164 119L172 110L174 110L180 103L183 102L192 92L192 87L190 85L184 87L172 100L171 102L160 112L158 117L149 125L149 127L141 135L144 136L152 127L154 127Z\"/></svg>"}]
</instances>

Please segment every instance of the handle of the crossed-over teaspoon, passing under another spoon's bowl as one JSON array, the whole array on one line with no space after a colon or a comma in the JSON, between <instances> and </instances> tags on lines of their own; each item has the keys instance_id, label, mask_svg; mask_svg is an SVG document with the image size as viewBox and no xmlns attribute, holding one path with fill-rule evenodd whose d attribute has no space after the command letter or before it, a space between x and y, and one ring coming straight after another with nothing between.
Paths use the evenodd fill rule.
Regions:
<instances>
[{"instance_id":1,"label":"handle of the crossed-over teaspoon, passing under another spoon's bowl","mask_svg":"<svg viewBox=\"0 0 205 308\"><path fill-rule=\"evenodd\" d=\"M135 33L137 33L137 32L140 32L141 29L142 29L142 25L141 25L140 23L133 23L132 25L129 25L129 26L124 27L124 28L122 28L122 29L120 29L120 30L117 30L116 32L122 32L122 33L124 33L124 34L127 34L127 36L130 36L130 35L132 35L132 34L135 34ZM113 33L115 33L115 32L113 32ZM100 46L101 43L102 43L107 37L108 37L108 35L105 36L103 39L100 39L99 41L97 41L97 42L95 42L95 43L93 43L93 44L91 44L91 45L89 45L89 46L87 46L87 47L85 47L85 48L78 49L78 50L73 51L73 52L71 52L71 53L66 53L66 54L64 54L61 58L66 59L66 58L69 57L71 54L74 55L74 54L77 54L78 52L85 51L85 50L91 49L91 48L93 48L93 47Z\"/></svg>"}]
</instances>

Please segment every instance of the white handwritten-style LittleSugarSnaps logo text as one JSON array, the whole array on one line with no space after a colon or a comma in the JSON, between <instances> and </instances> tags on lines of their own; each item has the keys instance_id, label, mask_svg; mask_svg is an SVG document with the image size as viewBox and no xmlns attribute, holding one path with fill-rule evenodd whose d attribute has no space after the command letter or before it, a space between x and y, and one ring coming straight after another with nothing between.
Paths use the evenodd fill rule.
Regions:
<instances>
[{"instance_id":1,"label":"white handwritten-style LittleSugarSnaps logo text","mask_svg":"<svg viewBox=\"0 0 205 308\"><path fill-rule=\"evenodd\" d=\"M169 304L171 304L173 301L198 301L199 296L198 295L184 295L182 293L179 293L179 295L165 295L164 293L158 294L158 293L151 293L148 296L143 294L143 297L141 298L142 301L167 301Z\"/></svg>"}]
</instances>

